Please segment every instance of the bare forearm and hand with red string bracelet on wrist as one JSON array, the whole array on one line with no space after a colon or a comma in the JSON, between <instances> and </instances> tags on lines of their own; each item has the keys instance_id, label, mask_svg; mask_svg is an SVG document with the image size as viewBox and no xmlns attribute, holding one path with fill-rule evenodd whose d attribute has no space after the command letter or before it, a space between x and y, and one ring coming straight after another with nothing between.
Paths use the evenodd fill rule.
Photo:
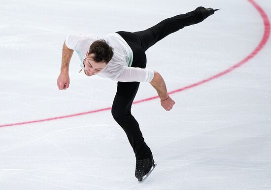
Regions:
<instances>
[{"instance_id":1,"label":"bare forearm and hand with red string bracelet on wrist","mask_svg":"<svg viewBox=\"0 0 271 190\"><path fill-rule=\"evenodd\" d=\"M156 89L156 91L161 99L161 106L165 110L170 111L172 109L173 105L175 104L175 102L174 102L174 100L172 100L169 97L166 83L165 83L165 80L163 79L163 77L158 72L155 71L154 77L150 83Z\"/></svg>"}]
</instances>

